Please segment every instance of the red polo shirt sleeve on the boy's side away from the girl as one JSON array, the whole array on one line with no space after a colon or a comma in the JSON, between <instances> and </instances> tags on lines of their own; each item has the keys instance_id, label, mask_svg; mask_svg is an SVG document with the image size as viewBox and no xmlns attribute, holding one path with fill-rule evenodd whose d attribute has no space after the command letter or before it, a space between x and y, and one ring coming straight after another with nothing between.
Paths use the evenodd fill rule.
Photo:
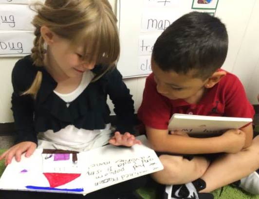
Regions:
<instances>
[{"instance_id":1,"label":"red polo shirt sleeve on the boy's side away from the girl","mask_svg":"<svg viewBox=\"0 0 259 199\"><path fill-rule=\"evenodd\" d=\"M253 118L254 108L247 99L240 80L233 75L232 80L228 81L227 88L225 90L224 116Z\"/></svg>"}]
</instances>

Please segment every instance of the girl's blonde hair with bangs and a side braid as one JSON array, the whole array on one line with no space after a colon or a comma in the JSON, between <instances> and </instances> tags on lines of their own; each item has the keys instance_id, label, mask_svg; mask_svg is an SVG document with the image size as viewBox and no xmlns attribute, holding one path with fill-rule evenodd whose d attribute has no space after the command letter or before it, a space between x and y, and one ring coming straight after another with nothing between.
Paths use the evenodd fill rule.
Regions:
<instances>
[{"instance_id":1,"label":"girl's blonde hair with bangs and a side braid","mask_svg":"<svg viewBox=\"0 0 259 199\"><path fill-rule=\"evenodd\" d=\"M89 63L102 64L103 70L93 81L115 67L120 46L117 19L108 0L46 0L44 4L34 3L37 12L32 24L35 26L34 47L31 57L34 65L43 66L44 40L40 28L47 26L58 36L68 39L75 47L82 45L82 57ZM40 88L42 72L38 71L31 87L22 95L31 94L34 98Z\"/></svg>"}]
</instances>

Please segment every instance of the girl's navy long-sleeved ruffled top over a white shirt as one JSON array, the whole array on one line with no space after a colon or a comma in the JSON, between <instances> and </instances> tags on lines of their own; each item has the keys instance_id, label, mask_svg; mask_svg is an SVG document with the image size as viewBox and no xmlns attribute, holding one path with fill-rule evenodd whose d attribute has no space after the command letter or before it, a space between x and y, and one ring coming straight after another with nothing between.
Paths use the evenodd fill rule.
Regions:
<instances>
[{"instance_id":1,"label":"girl's navy long-sleeved ruffled top over a white shirt","mask_svg":"<svg viewBox=\"0 0 259 199\"><path fill-rule=\"evenodd\" d=\"M37 98L21 96L33 83L37 71L42 72L42 82ZM101 65L94 67L96 75L103 71ZM17 143L32 141L37 143L37 133L53 130L54 132L74 125L78 129L104 129L110 123L110 109L107 104L109 95L117 116L117 131L133 133L136 122L132 96L122 81L120 72L115 68L103 75L96 82L89 83L86 89L66 106L53 90L56 81L44 67L33 65L30 56L20 59L12 72L12 110L15 119Z\"/></svg>"}]
</instances>

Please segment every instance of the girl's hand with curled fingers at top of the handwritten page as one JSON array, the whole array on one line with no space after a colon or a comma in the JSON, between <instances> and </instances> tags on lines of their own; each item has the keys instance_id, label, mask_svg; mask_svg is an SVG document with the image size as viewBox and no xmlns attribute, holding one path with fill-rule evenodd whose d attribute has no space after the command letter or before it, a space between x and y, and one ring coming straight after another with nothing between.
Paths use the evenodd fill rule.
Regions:
<instances>
[{"instance_id":1,"label":"girl's hand with curled fingers at top of the handwritten page","mask_svg":"<svg viewBox=\"0 0 259 199\"><path fill-rule=\"evenodd\" d=\"M128 132L124 134L121 134L120 132L115 132L109 140L109 143L114 146L131 147L134 144L141 144L141 141L137 140L134 135Z\"/></svg>"}]
</instances>

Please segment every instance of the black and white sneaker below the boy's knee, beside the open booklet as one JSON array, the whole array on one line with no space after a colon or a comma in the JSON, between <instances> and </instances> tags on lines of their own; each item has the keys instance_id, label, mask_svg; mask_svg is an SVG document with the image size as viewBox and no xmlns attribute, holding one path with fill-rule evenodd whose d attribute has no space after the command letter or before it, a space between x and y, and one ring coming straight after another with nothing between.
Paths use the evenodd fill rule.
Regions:
<instances>
[{"instance_id":1,"label":"black and white sneaker below the boy's knee, beside the open booklet","mask_svg":"<svg viewBox=\"0 0 259 199\"><path fill-rule=\"evenodd\" d=\"M167 185L163 199L213 199L209 193L198 193L206 187L202 179L186 184Z\"/></svg>"}]
</instances>

